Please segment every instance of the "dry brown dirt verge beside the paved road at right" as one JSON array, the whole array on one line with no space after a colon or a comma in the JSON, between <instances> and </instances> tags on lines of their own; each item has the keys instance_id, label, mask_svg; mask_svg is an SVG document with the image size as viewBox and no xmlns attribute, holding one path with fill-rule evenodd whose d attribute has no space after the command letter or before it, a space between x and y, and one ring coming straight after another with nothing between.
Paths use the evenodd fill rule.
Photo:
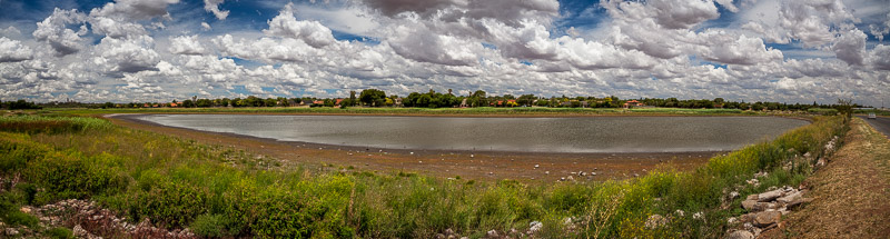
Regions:
<instances>
[{"instance_id":1,"label":"dry brown dirt verge beside the paved road at right","mask_svg":"<svg viewBox=\"0 0 890 239\"><path fill-rule=\"evenodd\" d=\"M861 119L803 183L815 200L764 238L890 238L890 140Z\"/></svg>"}]
</instances>

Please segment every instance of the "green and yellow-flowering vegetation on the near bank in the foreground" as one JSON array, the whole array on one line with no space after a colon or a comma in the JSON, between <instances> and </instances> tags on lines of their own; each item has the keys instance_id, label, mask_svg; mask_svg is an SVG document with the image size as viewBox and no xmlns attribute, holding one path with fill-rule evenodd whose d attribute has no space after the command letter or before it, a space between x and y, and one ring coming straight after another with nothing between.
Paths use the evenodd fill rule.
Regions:
<instances>
[{"instance_id":1,"label":"green and yellow-flowering vegetation on the near bank in the foreground","mask_svg":"<svg viewBox=\"0 0 890 239\"><path fill-rule=\"evenodd\" d=\"M36 223L18 207L90 198L132 221L148 217L205 236L431 238L451 228L479 237L542 221L542 238L718 237L728 217L742 213L719 209L725 189L770 172L759 187L740 189L739 205L768 187L799 183L810 163L781 166L804 152L821 156L822 146L846 130L842 121L815 118L692 172L663 168L626 181L530 186L308 170L102 119L0 117L0 173L23 181L2 186L0 219ZM670 222L647 229L654 213Z\"/></svg>"}]
</instances>

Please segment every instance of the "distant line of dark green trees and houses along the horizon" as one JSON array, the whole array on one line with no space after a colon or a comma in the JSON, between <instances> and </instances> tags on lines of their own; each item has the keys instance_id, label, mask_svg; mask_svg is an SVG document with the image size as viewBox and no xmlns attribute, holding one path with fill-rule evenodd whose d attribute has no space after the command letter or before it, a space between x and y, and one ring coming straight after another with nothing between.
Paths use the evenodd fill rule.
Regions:
<instances>
[{"instance_id":1,"label":"distant line of dark green trees and houses along the horizon","mask_svg":"<svg viewBox=\"0 0 890 239\"><path fill-rule=\"evenodd\" d=\"M729 101L723 98L715 99L686 99L676 98L639 98L620 99L615 96L603 98L597 97L540 97L535 94L513 94L492 96L484 90L476 90L466 96L455 96L452 89L446 92L412 92L402 98L396 94L387 96L379 89L365 89L360 92L350 91L349 97L344 98L259 98L249 96L246 98L218 98L198 99L191 97L182 101L171 102L130 102L130 103L79 103L73 101L33 103L26 100L2 102L0 107L6 109L39 109L41 107L86 107L86 108L159 108L159 107L181 107L181 108L212 108L212 107L411 107L411 108L456 108L456 107L548 107L548 108L634 108L634 107L660 107L660 108L688 108L688 109L741 109L741 110L783 110L783 111L808 111L810 109L835 109L840 104L819 104L813 101L809 103L782 103L782 102L745 102ZM861 107L852 104L852 107ZM812 110L810 110L812 111Z\"/></svg>"}]
</instances>

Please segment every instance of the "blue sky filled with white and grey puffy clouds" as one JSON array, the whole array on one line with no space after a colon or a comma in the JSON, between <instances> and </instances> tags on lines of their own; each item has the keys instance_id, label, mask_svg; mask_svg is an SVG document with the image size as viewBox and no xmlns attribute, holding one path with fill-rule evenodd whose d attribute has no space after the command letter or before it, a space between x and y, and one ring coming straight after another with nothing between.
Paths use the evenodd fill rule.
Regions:
<instances>
[{"instance_id":1,"label":"blue sky filled with white and grey puffy clouds","mask_svg":"<svg viewBox=\"0 0 890 239\"><path fill-rule=\"evenodd\" d=\"M376 88L890 107L890 0L0 0L0 100Z\"/></svg>"}]
</instances>

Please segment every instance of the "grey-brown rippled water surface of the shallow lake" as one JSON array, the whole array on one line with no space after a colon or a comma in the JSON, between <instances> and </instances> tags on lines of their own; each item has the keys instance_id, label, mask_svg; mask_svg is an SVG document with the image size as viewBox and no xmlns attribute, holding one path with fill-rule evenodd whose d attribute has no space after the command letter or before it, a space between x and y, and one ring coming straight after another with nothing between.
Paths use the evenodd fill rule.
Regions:
<instances>
[{"instance_id":1,"label":"grey-brown rippled water surface of the shallow lake","mask_svg":"<svg viewBox=\"0 0 890 239\"><path fill-rule=\"evenodd\" d=\"M144 114L171 127L388 149L535 152L733 150L809 122L777 117L452 118Z\"/></svg>"}]
</instances>

